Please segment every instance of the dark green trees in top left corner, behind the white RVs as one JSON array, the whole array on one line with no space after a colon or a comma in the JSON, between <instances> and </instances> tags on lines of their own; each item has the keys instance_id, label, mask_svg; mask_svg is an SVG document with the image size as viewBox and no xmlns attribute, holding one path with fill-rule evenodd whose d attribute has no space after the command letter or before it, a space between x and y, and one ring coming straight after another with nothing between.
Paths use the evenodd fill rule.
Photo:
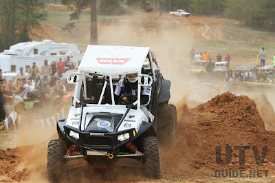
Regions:
<instances>
[{"instance_id":1,"label":"dark green trees in top left corner, behind the white RVs","mask_svg":"<svg viewBox=\"0 0 275 183\"><path fill-rule=\"evenodd\" d=\"M47 18L41 0L0 0L0 50L30 41L32 28Z\"/></svg>"}]
</instances>

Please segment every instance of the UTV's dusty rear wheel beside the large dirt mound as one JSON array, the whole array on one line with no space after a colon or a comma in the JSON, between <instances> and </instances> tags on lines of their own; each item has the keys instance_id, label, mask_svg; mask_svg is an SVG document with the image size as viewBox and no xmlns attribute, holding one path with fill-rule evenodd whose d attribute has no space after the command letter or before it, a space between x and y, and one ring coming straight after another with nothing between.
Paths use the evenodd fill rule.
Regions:
<instances>
[{"instance_id":1,"label":"UTV's dusty rear wheel beside the large dirt mound","mask_svg":"<svg viewBox=\"0 0 275 183\"><path fill-rule=\"evenodd\" d=\"M177 133L177 108L175 105L162 104L157 110L157 115L160 126L157 129L159 144L173 144Z\"/></svg>"}]
</instances>

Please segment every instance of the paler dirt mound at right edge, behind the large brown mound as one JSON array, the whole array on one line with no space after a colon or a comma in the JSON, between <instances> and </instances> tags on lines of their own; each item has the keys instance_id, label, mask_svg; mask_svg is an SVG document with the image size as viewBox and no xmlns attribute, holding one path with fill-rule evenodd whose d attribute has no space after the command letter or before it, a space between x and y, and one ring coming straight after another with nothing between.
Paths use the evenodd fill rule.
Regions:
<instances>
[{"instance_id":1,"label":"paler dirt mound at right edge, behind the large brown mound","mask_svg":"<svg viewBox=\"0 0 275 183\"><path fill-rule=\"evenodd\" d=\"M267 96L261 94L254 97L253 100L257 105L263 122L265 122L265 129L275 131L275 112L272 104L267 100Z\"/></svg>"}]
</instances>

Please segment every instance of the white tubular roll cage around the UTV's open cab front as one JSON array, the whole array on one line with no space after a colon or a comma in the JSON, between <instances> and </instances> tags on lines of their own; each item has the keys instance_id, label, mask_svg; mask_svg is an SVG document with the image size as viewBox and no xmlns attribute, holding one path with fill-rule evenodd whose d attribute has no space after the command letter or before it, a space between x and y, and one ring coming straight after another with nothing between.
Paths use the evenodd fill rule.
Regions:
<instances>
[{"instance_id":1,"label":"white tubular roll cage around the UTV's open cab front","mask_svg":"<svg viewBox=\"0 0 275 183\"><path fill-rule=\"evenodd\" d=\"M155 71L160 70L155 55L151 50L148 52L146 58L148 58L150 63L150 71L148 74L144 74L142 72L144 69L141 68L138 72L137 100L133 103L133 105L137 106L137 109L140 109L141 88L150 87L156 79ZM156 67L153 66L153 63L155 63ZM124 105L115 105L114 99L115 87L124 74L132 73L124 72L121 75L114 75L93 72L85 69L78 69L78 72L70 73L67 76L67 82L76 84L76 89L73 95L74 107L76 107L77 103L85 103L86 106L106 107L106 104L109 104L111 107L126 107Z\"/></svg>"}]
</instances>

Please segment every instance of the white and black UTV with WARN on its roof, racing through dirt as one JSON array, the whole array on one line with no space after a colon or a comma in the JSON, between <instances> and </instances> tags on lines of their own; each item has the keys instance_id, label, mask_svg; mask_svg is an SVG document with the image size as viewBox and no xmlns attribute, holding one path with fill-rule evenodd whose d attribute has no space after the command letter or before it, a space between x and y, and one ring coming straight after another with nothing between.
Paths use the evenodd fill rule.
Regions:
<instances>
[{"instance_id":1,"label":"white and black UTV with WARN on its roof, racing through dirt","mask_svg":"<svg viewBox=\"0 0 275 183\"><path fill-rule=\"evenodd\" d=\"M116 105L118 81L133 73L138 73L137 96L120 96ZM67 118L57 121L59 139L48 145L48 180L62 182L67 170L94 163L135 166L148 177L162 177L158 142L175 140L177 111L168 104L170 80L160 73L151 48L88 45L78 72L67 81L76 85L74 99ZM145 105L142 87L152 89Z\"/></svg>"}]
</instances>

